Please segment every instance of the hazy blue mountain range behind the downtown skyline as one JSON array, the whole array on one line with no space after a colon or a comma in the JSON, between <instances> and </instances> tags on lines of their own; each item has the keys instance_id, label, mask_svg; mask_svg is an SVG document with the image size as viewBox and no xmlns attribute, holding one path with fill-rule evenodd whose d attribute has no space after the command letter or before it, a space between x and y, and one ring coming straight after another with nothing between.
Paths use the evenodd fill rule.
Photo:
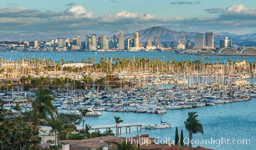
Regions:
<instances>
[{"instance_id":1,"label":"hazy blue mountain range behind the downtown skyline","mask_svg":"<svg viewBox=\"0 0 256 150\"><path fill-rule=\"evenodd\" d=\"M161 26L154 26L152 28L147 28L144 30L137 31L139 32L140 42L146 42L148 39L154 41L155 36L161 37L161 41L173 41L178 40L179 37L184 37L184 35L188 35L188 40L194 41L194 36L197 32L188 32L188 31L174 31L168 28L164 28ZM81 34L83 33L83 34ZM86 34L91 34L90 31L67 31L67 32L58 32L58 31L48 31L44 33L33 32L30 34L7 34L0 33L0 41L17 41L17 40L51 40L59 37L72 38L80 35L81 39L86 38ZM113 37L113 33L101 33L97 34L97 36L101 36L102 34L106 34L107 37ZM116 33L117 34L117 33ZM238 43L239 45L246 43L251 45L256 45L256 33L251 34L230 34L227 32L214 33L215 43L219 43L219 40L224 39L224 37L228 36L233 40L233 43ZM125 34L126 37L134 37L134 33Z\"/></svg>"}]
</instances>

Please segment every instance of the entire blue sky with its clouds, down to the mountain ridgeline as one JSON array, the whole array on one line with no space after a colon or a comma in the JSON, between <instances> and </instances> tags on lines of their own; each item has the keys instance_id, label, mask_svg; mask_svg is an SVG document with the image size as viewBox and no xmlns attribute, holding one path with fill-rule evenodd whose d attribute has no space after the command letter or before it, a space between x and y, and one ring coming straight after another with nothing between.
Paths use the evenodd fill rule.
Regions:
<instances>
[{"instance_id":1,"label":"entire blue sky with its clouds, down to the mountain ridgeline","mask_svg":"<svg viewBox=\"0 0 256 150\"><path fill-rule=\"evenodd\" d=\"M176 31L256 33L254 0L1 0L0 33L31 34L164 26Z\"/></svg>"}]
</instances>

